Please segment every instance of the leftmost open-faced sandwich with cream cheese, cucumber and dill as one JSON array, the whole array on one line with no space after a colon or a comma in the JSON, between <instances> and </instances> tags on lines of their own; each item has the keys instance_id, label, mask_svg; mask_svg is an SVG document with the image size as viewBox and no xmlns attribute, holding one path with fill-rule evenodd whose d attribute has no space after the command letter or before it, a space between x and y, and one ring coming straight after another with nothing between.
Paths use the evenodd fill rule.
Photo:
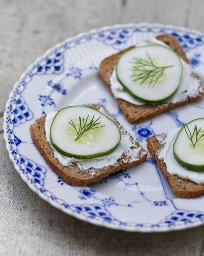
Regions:
<instances>
[{"instance_id":1,"label":"leftmost open-faced sandwich with cream cheese, cucumber and dill","mask_svg":"<svg viewBox=\"0 0 204 256\"><path fill-rule=\"evenodd\" d=\"M44 160L69 185L88 185L147 157L101 105L50 112L37 119L30 132Z\"/></svg>"}]
</instances>

